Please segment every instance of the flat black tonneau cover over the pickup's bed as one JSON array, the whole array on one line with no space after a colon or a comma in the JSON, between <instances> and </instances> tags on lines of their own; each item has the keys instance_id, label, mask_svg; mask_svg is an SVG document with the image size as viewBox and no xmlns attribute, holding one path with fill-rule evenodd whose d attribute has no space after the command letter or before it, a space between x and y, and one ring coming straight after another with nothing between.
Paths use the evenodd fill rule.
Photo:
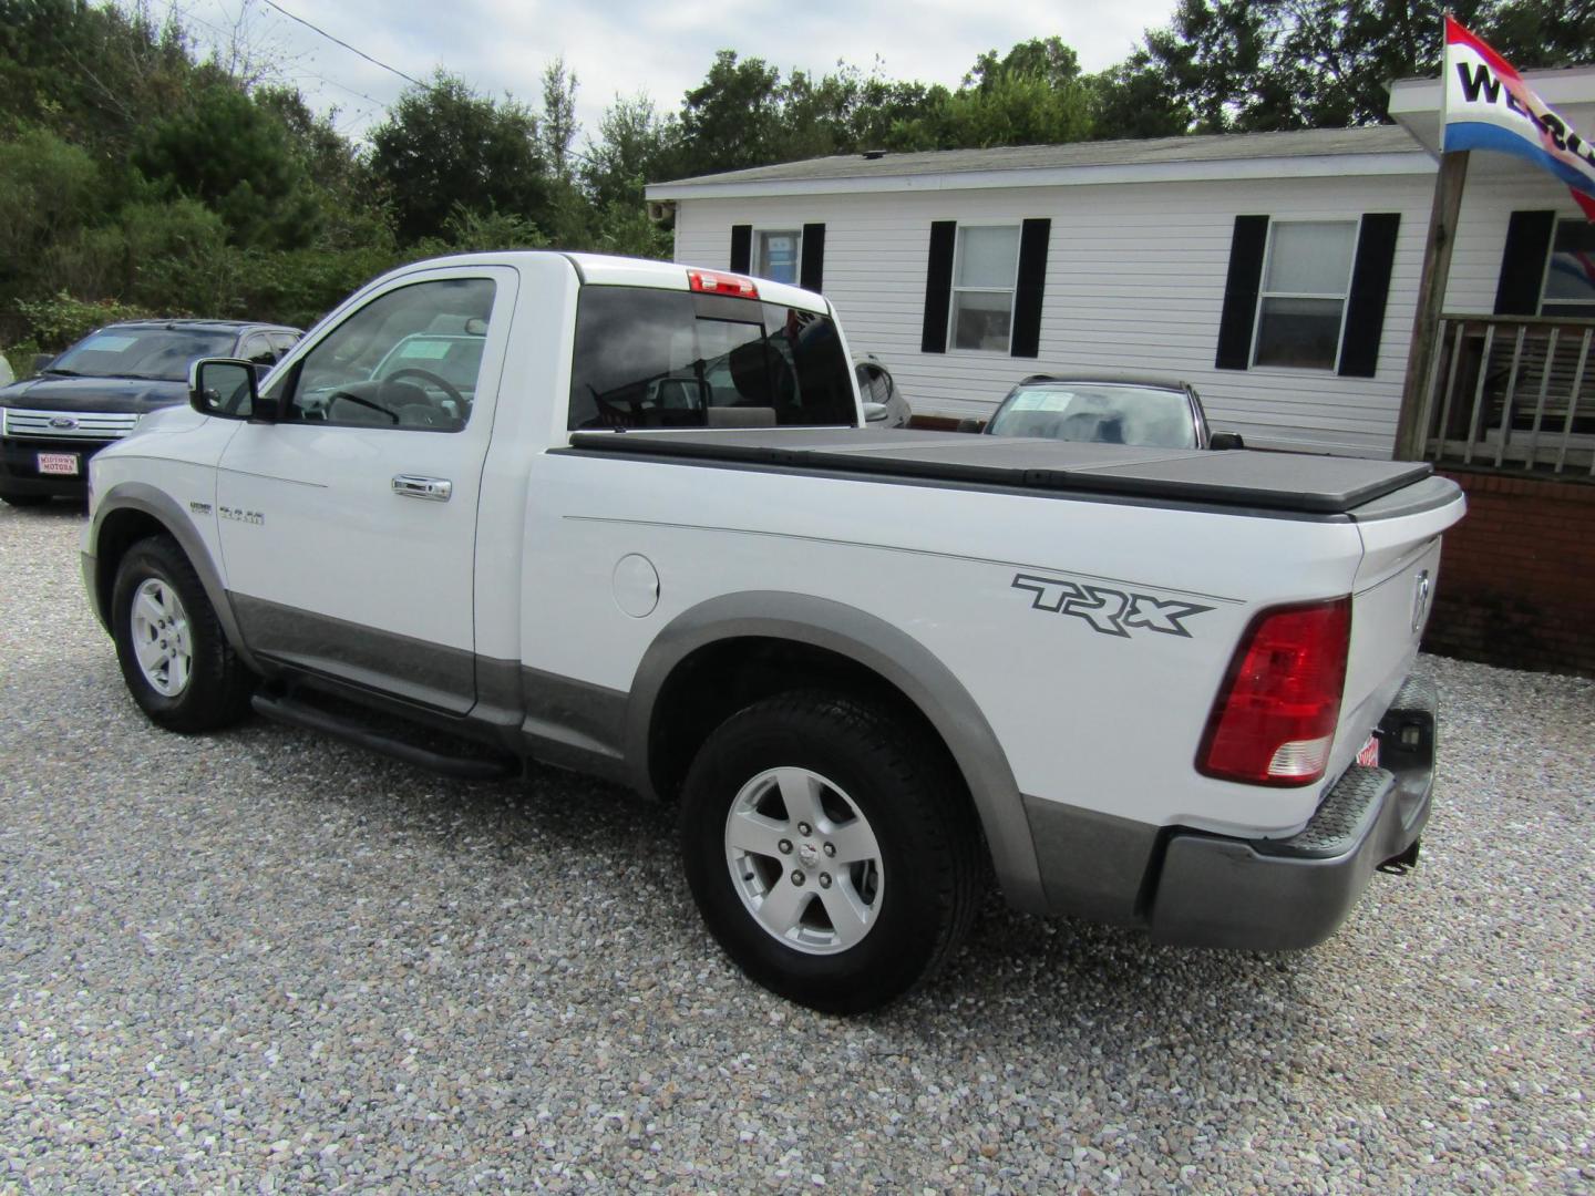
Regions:
<instances>
[{"instance_id":1,"label":"flat black tonneau cover over the pickup's bed","mask_svg":"<svg viewBox=\"0 0 1595 1196\"><path fill-rule=\"evenodd\" d=\"M1343 515L1429 475L1429 466L1415 461L855 427L576 432L571 445L628 456L1105 493L1306 515ZM1450 486L1443 490L1450 496Z\"/></svg>"}]
</instances>

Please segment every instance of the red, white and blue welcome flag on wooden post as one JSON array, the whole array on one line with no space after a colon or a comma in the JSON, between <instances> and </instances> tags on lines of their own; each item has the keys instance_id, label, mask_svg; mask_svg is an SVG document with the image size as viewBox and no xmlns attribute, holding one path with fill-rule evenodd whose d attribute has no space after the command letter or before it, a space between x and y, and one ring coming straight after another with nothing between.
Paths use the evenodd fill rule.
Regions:
<instances>
[{"instance_id":1,"label":"red, white and blue welcome flag on wooden post","mask_svg":"<svg viewBox=\"0 0 1595 1196\"><path fill-rule=\"evenodd\" d=\"M1528 89L1490 45L1445 14L1443 150L1517 155L1568 185L1595 220L1595 147Z\"/></svg>"}]
</instances>

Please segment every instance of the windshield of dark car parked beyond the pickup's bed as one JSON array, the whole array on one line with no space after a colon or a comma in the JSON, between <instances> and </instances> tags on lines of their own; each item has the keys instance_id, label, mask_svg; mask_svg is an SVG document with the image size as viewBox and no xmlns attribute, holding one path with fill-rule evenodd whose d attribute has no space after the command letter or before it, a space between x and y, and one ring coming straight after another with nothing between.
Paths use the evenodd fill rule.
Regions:
<instances>
[{"instance_id":1,"label":"windshield of dark car parked beyond the pickup's bed","mask_svg":"<svg viewBox=\"0 0 1595 1196\"><path fill-rule=\"evenodd\" d=\"M1021 386L986 429L992 435L1037 435L1099 445L1196 448L1196 426L1183 391L1118 383Z\"/></svg>"}]
</instances>

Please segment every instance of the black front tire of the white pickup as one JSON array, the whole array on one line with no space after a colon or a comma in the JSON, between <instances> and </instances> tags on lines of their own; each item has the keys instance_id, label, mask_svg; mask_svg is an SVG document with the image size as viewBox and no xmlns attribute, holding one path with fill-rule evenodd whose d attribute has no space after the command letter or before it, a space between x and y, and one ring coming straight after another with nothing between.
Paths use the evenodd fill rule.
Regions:
<instances>
[{"instance_id":1,"label":"black front tire of the white pickup","mask_svg":"<svg viewBox=\"0 0 1595 1196\"><path fill-rule=\"evenodd\" d=\"M171 611L183 616L182 643L187 646L188 667L183 670L187 676L174 676L166 670L161 679L171 692L161 692L156 681L152 681L152 673L139 662L136 628L140 625L134 606L147 584L175 595L179 606ZM144 628L147 624L140 630ZM249 713L255 676L226 641L199 574L169 536L139 541L121 558L112 588L112 635L128 692L152 722L167 730L193 734L231 727ZM156 676L160 673L161 670L155 670Z\"/></svg>"}]
</instances>

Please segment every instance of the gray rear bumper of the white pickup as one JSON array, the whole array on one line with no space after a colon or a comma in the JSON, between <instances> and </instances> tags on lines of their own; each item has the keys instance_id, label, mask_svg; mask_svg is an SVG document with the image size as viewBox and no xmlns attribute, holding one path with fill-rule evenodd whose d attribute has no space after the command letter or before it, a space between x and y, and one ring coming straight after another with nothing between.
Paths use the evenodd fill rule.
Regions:
<instances>
[{"instance_id":1,"label":"gray rear bumper of the white pickup","mask_svg":"<svg viewBox=\"0 0 1595 1196\"><path fill-rule=\"evenodd\" d=\"M1329 938L1369 877L1410 861L1434 791L1436 694L1408 681L1380 722L1380 765L1353 767L1294 837L1176 831L1148 909L1158 942L1289 950Z\"/></svg>"}]
</instances>

